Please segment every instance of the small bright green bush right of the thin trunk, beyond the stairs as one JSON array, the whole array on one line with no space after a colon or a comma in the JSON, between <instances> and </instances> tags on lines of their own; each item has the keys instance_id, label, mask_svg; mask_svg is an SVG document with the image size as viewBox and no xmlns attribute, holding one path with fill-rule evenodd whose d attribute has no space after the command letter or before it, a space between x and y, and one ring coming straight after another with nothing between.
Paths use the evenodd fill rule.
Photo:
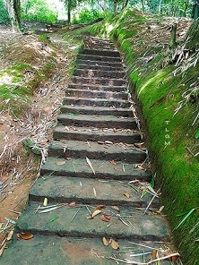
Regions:
<instances>
[{"instance_id":1,"label":"small bright green bush right of the thin trunk, beyond the stairs","mask_svg":"<svg viewBox=\"0 0 199 265\"><path fill-rule=\"evenodd\" d=\"M99 18L103 17L103 14L100 13L98 10L88 10L87 8L84 8L81 13L79 13L78 16L74 15L73 23L90 23L92 21L95 21Z\"/></svg>"}]
</instances>

